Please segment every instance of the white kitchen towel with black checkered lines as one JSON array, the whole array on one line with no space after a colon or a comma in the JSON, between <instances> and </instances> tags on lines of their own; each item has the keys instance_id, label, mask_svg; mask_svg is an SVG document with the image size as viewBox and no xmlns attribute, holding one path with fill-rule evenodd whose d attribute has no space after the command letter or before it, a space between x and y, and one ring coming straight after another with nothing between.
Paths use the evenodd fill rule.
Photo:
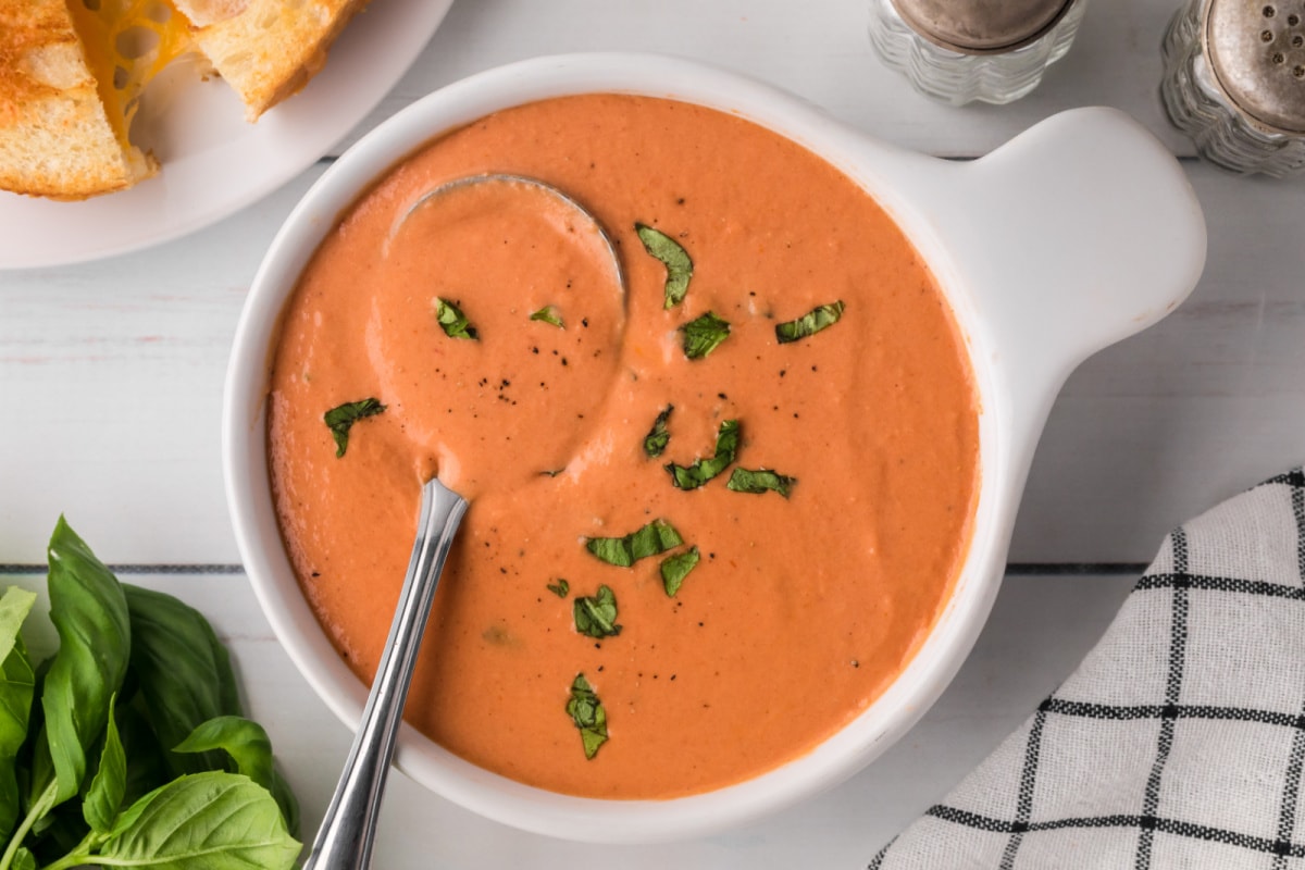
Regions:
<instances>
[{"instance_id":1,"label":"white kitchen towel with black checkered lines","mask_svg":"<svg viewBox=\"0 0 1305 870\"><path fill-rule=\"evenodd\" d=\"M1305 473L1169 535L1078 670L870 870L1305 870Z\"/></svg>"}]
</instances>

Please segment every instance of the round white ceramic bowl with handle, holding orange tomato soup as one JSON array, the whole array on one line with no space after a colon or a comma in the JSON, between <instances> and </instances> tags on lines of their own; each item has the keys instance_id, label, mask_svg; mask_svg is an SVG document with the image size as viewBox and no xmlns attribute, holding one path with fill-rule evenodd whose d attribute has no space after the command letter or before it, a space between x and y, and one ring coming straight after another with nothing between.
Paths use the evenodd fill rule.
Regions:
<instances>
[{"instance_id":1,"label":"round white ceramic bowl with handle, holding orange tomato soup","mask_svg":"<svg viewBox=\"0 0 1305 870\"><path fill-rule=\"evenodd\" d=\"M245 570L299 670L351 728L367 686L341 661L300 595L269 487L268 365L282 307L337 215L422 143L501 108L591 91L736 112L864 185L933 269L964 333L981 407L974 539L955 591L889 690L806 755L705 794L600 801L489 773L407 725L399 736L405 772L492 819L576 840L672 840L752 820L844 780L937 699L997 593L1024 477L1057 390L1086 356L1186 297L1205 262L1205 222L1173 157L1113 110L1064 112L988 157L949 162L870 140L771 86L647 55L542 57L414 103L341 157L277 233L240 318L223 404L227 497Z\"/></svg>"}]
</instances>

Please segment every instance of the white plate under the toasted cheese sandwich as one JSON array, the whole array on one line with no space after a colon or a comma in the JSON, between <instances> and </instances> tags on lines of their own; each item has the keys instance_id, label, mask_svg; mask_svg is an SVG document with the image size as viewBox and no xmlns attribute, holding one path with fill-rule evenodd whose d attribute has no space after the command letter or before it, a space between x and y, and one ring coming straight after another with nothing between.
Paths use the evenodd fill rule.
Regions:
<instances>
[{"instance_id":1,"label":"white plate under the toasted cheese sandwich","mask_svg":"<svg viewBox=\"0 0 1305 870\"><path fill-rule=\"evenodd\" d=\"M170 67L151 82L133 138L163 168L82 202L0 192L0 269L56 266L194 232L270 193L341 141L394 87L453 0L377 0L356 16L308 87L244 120L226 82Z\"/></svg>"}]
</instances>

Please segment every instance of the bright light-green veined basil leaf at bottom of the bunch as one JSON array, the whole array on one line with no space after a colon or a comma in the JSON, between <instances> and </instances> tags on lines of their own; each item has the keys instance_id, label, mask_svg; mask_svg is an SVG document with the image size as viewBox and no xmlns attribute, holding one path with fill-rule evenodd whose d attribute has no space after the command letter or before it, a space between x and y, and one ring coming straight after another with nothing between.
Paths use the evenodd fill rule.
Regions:
<instances>
[{"instance_id":1,"label":"bright light-green veined basil leaf at bottom of the bunch","mask_svg":"<svg viewBox=\"0 0 1305 870\"><path fill-rule=\"evenodd\" d=\"M299 852L268 789L239 773L206 771L133 803L97 858L151 870L290 870Z\"/></svg>"}]
</instances>

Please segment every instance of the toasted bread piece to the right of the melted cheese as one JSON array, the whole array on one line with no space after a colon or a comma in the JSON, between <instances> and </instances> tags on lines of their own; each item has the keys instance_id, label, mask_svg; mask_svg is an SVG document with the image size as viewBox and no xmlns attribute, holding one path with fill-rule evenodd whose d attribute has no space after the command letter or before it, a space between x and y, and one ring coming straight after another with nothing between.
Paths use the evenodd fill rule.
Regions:
<instances>
[{"instance_id":1,"label":"toasted bread piece to the right of the melted cheese","mask_svg":"<svg viewBox=\"0 0 1305 870\"><path fill-rule=\"evenodd\" d=\"M194 39L245 104L245 117L299 91L368 0L172 0Z\"/></svg>"}]
</instances>

